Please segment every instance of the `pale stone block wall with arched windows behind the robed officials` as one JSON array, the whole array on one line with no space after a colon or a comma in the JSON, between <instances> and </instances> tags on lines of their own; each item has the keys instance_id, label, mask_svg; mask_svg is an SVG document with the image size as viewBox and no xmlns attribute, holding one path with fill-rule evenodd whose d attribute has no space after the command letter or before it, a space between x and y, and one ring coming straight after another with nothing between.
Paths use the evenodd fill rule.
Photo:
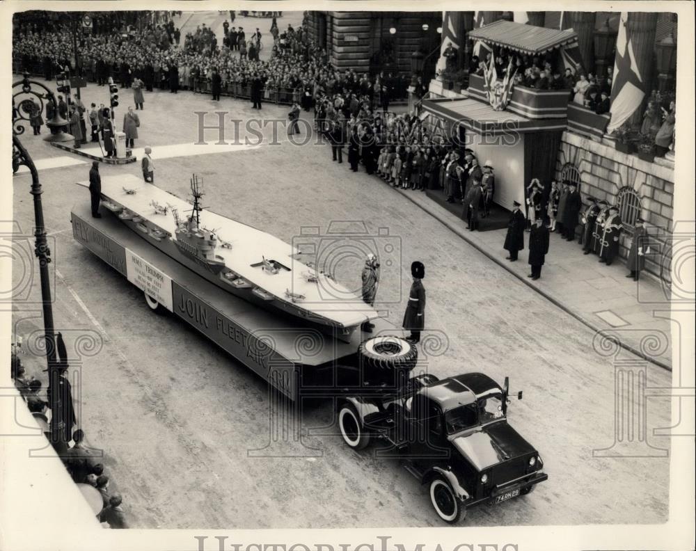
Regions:
<instances>
[{"instance_id":1,"label":"pale stone block wall with arched windows behind the robed officials","mask_svg":"<svg viewBox=\"0 0 696 551\"><path fill-rule=\"evenodd\" d=\"M646 270L653 276L670 281L671 236L674 229L674 169L661 161L649 163L635 155L615 150L608 142L565 131L556 157L556 177L561 179L564 166L573 164L580 173L580 192L583 203L587 195L617 204L619 190L628 186L640 196L642 218L659 251L651 248ZM624 225L621 237L622 259L631 246L633 228Z\"/></svg>"}]
</instances>

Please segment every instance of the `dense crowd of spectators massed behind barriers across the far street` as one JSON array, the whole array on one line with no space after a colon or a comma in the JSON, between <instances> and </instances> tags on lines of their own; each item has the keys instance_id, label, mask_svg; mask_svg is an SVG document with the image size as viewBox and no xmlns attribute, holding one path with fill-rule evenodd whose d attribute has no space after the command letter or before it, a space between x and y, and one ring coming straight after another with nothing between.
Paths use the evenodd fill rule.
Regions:
<instances>
[{"instance_id":1,"label":"dense crowd of spectators massed behind barriers across the far street","mask_svg":"<svg viewBox=\"0 0 696 551\"><path fill-rule=\"evenodd\" d=\"M223 93L246 88L255 77L262 81L267 97L272 90L283 90L280 99L306 105L306 95L312 102L317 94L361 92L377 97L388 105L394 97L405 97L408 79L401 75L380 74L370 79L351 70L340 72L329 63L326 50L319 48L299 26L288 25L280 31L275 18L271 22L273 38L267 61L258 56L261 42L259 29L250 35L242 27L225 26L222 47L215 33L205 24L187 33L182 47L180 31L171 19L163 24L148 24L129 33L103 33L79 37L81 73L88 81L100 85L112 77L129 88L137 77L145 90L184 89L208 91L213 74L221 77ZM65 67L74 69L72 35L66 27L51 32L35 31L33 27L13 36L15 70L42 72L52 79ZM174 73L174 74L173 74ZM358 87L358 88L356 88Z\"/></svg>"}]
</instances>

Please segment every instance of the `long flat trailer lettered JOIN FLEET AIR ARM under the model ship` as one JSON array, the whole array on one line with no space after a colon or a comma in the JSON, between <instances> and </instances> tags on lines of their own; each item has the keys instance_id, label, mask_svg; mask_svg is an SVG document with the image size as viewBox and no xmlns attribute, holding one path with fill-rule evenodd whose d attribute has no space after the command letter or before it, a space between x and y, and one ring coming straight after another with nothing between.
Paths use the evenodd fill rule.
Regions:
<instances>
[{"instance_id":1,"label":"long flat trailer lettered JOIN FLEET AIR ARM under the model ship","mask_svg":"<svg viewBox=\"0 0 696 551\"><path fill-rule=\"evenodd\" d=\"M299 326L206 281L102 210L102 218L93 218L87 200L74 205L75 241L141 289L150 310L186 321L292 400L301 391L322 394L352 388L356 392L355 385L362 386L358 381L362 378L361 350L370 358L382 358L380 373L399 362L415 365L415 346L385 319L373 320L372 333L356 330L349 342L341 335L332 337ZM375 365L370 361L364 367L373 369Z\"/></svg>"}]
</instances>

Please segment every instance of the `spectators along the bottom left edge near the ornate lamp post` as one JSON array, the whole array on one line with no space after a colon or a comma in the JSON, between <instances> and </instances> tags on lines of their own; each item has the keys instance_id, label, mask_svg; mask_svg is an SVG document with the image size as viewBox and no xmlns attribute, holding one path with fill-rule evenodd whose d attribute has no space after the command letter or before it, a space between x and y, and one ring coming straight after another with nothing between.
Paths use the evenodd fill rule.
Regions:
<instances>
[{"instance_id":1,"label":"spectators along the bottom left edge near the ornate lamp post","mask_svg":"<svg viewBox=\"0 0 696 551\"><path fill-rule=\"evenodd\" d=\"M26 373L20 358L24 353L22 341L18 339L17 342L13 342L11 348L10 375L15 387L26 402L33 417L38 422L43 422L45 427L49 427L50 415L52 415L49 392L42 391L44 388L42 381ZM72 446L58 455L75 484L88 484L99 491L102 497L102 509L96 516L102 523L102 527L126 528L124 511L121 506L122 497L109 489L111 481L104 469L104 463L102 463L103 454L86 445L84 431L77 429L72 432Z\"/></svg>"}]
</instances>

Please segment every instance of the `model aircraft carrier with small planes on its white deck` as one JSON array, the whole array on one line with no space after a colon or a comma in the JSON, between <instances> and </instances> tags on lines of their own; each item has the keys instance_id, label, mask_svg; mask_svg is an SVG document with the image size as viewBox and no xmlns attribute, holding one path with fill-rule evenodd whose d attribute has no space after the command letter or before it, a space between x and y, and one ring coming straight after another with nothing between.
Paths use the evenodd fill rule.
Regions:
<instances>
[{"instance_id":1,"label":"model aircraft carrier with small planes on its white deck","mask_svg":"<svg viewBox=\"0 0 696 551\"><path fill-rule=\"evenodd\" d=\"M215 229L205 227L202 184L193 175L188 202L131 175L104 177L102 205L200 277L271 312L295 317L302 326L349 340L361 324L378 317L330 275L299 262L299 251L285 241L208 210L205 224Z\"/></svg>"}]
</instances>

